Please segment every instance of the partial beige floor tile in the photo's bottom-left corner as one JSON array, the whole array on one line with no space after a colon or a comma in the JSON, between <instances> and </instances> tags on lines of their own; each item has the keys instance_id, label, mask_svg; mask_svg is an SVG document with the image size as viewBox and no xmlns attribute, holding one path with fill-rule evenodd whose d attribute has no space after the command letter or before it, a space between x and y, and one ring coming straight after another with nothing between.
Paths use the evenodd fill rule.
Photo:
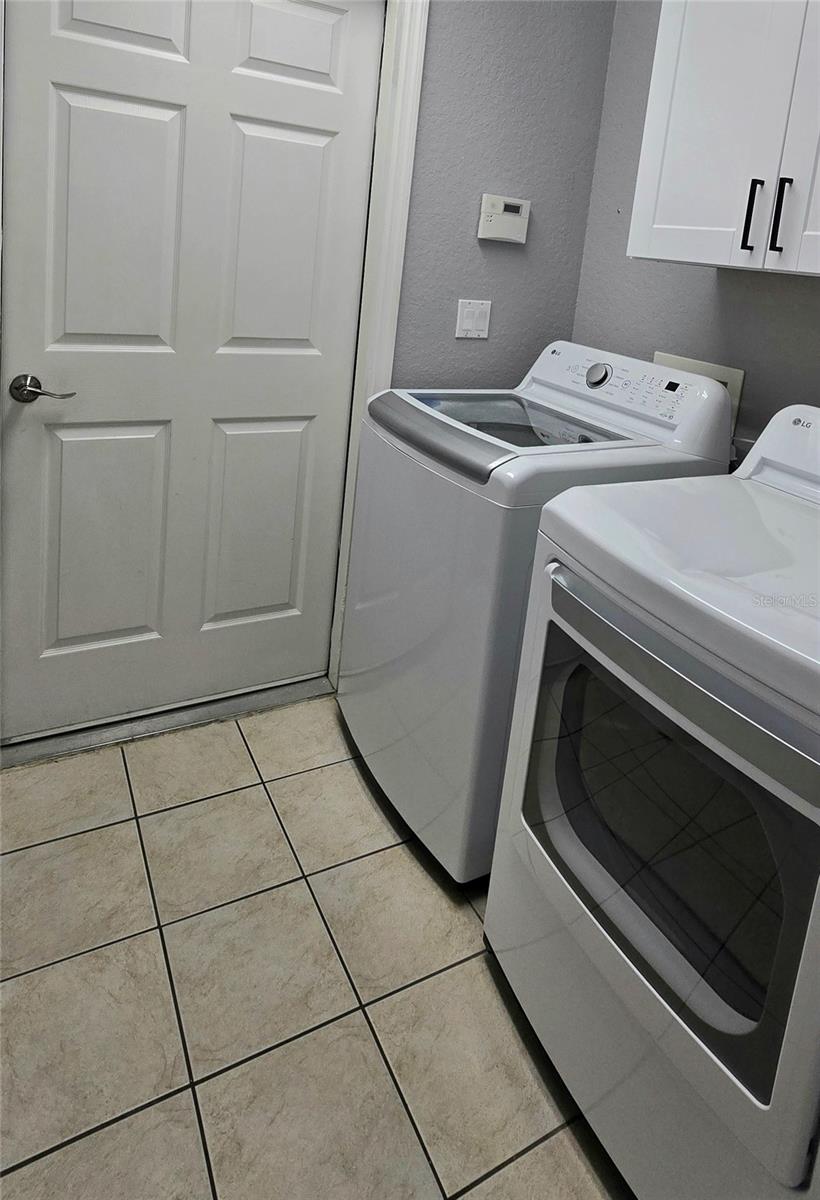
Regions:
<instances>
[{"instance_id":1,"label":"partial beige floor tile in the photo's bottom-left corner","mask_svg":"<svg viewBox=\"0 0 820 1200\"><path fill-rule=\"evenodd\" d=\"M2 1181L2 1200L210 1200L190 1092L152 1104Z\"/></svg>"}]
</instances>

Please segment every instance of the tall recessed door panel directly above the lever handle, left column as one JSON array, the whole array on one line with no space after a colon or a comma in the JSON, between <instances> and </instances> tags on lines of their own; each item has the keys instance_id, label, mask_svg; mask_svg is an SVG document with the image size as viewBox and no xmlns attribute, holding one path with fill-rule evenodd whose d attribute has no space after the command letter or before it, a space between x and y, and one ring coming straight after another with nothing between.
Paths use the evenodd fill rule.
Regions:
<instances>
[{"instance_id":1,"label":"tall recessed door panel directly above the lever handle, left column","mask_svg":"<svg viewBox=\"0 0 820 1200\"><path fill-rule=\"evenodd\" d=\"M52 343L170 349L182 120L55 89Z\"/></svg>"}]
</instances>

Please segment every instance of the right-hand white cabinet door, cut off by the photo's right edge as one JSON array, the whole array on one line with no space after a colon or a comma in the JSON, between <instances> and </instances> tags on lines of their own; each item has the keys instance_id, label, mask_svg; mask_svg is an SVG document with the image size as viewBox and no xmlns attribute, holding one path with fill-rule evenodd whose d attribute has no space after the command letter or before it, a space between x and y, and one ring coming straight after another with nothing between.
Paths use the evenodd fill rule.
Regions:
<instances>
[{"instance_id":1,"label":"right-hand white cabinet door, cut off by the photo's right edge","mask_svg":"<svg viewBox=\"0 0 820 1200\"><path fill-rule=\"evenodd\" d=\"M810 0L797 60L766 266L820 275L820 2ZM782 247L782 248L777 248Z\"/></svg>"}]
</instances>

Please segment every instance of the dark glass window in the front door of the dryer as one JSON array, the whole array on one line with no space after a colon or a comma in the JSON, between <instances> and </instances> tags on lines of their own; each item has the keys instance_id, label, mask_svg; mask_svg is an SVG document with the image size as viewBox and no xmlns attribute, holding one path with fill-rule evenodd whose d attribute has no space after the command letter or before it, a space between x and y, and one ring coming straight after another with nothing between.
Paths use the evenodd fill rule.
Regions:
<instances>
[{"instance_id":1,"label":"dark glass window in the front door of the dryer","mask_svg":"<svg viewBox=\"0 0 820 1200\"><path fill-rule=\"evenodd\" d=\"M766 1102L818 883L816 826L555 624L523 817L647 980Z\"/></svg>"}]
</instances>

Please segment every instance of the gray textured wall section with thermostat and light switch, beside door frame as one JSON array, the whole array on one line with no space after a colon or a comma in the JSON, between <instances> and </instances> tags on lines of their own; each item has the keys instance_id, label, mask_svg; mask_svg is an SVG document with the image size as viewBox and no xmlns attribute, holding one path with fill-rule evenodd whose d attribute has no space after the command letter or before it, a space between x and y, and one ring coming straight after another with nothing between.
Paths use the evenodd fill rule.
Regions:
<instances>
[{"instance_id":1,"label":"gray textured wall section with thermostat and light switch, beside door frame","mask_svg":"<svg viewBox=\"0 0 820 1200\"><path fill-rule=\"evenodd\" d=\"M394 382L510 386L569 337L613 5L432 0ZM481 192L532 200L526 246L478 241ZM486 341L456 301L492 300Z\"/></svg>"}]
</instances>

